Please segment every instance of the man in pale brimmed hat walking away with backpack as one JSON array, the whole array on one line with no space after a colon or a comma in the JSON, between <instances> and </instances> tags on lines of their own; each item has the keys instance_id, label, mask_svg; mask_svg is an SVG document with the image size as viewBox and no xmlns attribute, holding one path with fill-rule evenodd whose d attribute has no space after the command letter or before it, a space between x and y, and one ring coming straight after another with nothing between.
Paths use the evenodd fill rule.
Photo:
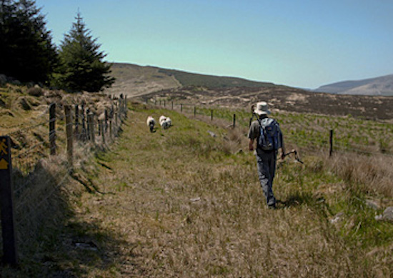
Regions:
<instances>
[{"instance_id":1,"label":"man in pale brimmed hat walking away with backpack","mask_svg":"<svg viewBox=\"0 0 393 278\"><path fill-rule=\"evenodd\" d=\"M276 172L278 149L281 149L281 159L285 157L284 140L277 121L267 116L270 111L266 102L258 102L254 114L257 116L257 120L253 121L249 128L249 150L255 149L254 142L257 141L255 156L257 157L259 182L261 182L267 206L275 209L276 198L274 198L272 189L273 179Z\"/></svg>"}]
</instances>

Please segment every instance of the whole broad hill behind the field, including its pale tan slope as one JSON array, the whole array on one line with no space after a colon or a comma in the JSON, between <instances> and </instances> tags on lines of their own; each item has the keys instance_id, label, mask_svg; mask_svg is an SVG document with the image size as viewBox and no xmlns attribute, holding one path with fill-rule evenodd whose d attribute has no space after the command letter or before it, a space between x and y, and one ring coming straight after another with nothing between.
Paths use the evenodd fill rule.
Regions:
<instances>
[{"instance_id":1,"label":"whole broad hill behind the field, including its pale tan slope","mask_svg":"<svg viewBox=\"0 0 393 278\"><path fill-rule=\"evenodd\" d=\"M106 93L139 96L144 101L163 99L183 104L249 109L257 101L264 100L269 101L273 111L393 119L392 96L324 94L266 82L134 64L114 64L112 71L116 83ZM361 85L370 86L364 81L357 82L357 86ZM350 88L345 82L339 86Z\"/></svg>"}]
</instances>

